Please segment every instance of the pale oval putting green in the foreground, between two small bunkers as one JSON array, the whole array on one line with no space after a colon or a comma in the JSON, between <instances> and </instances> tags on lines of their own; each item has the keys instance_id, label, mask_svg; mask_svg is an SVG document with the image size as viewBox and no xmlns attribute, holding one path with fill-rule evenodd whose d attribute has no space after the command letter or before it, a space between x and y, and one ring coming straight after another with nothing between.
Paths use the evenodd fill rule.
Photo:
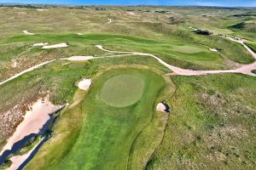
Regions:
<instances>
[{"instance_id":1,"label":"pale oval putting green in the foreground, between two small bunkers","mask_svg":"<svg viewBox=\"0 0 256 170\"><path fill-rule=\"evenodd\" d=\"M144 82L141 77L125 74L108 79L104 83L101 99L108 105L125 107L137 103L143 96Z\"/></svg>"}]
</instances>

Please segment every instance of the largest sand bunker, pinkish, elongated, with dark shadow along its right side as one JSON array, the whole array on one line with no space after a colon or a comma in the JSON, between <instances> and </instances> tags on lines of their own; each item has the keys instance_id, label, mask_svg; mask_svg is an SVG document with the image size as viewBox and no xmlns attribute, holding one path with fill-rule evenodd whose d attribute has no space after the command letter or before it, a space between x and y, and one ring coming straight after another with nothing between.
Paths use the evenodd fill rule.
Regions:
<instances>
[{"instance_id":1,"label":"largest sand bunker, pinkish, elongated, with dark shadow along its right side","mask_svg":"<svg viewBox=\"0 0 256 170\"><path fill-rule=\"evenodd\" d=\"M15 133L8 139L7 144L3 146L0 155L3 154L4 150L11 150L13 144L24 139L27 135L39 133L40 128L49 120L49 114L60 108L60 105L52 105L48 97L38 99L38 101L32 105L31 110L26 111L24 120L20 122Z\"/></svg>"}]
</instances>

